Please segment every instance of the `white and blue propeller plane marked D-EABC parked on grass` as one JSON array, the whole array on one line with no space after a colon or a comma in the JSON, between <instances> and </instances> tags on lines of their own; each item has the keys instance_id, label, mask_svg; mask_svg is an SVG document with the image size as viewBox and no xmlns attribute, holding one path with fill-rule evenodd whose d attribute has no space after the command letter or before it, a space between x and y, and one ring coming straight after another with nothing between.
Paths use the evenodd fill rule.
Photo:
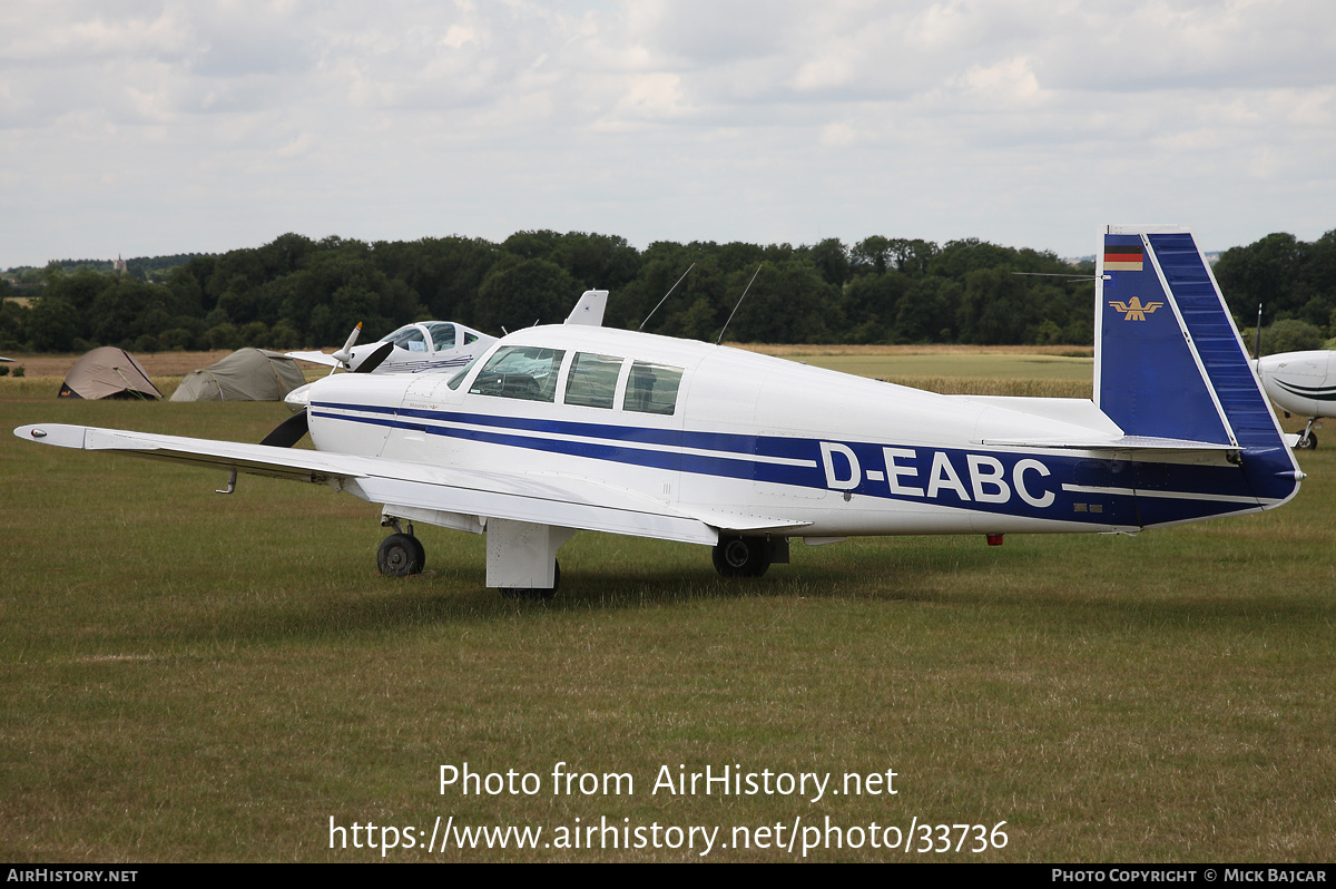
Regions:
<instances>
[{"instance_id":1,"label":"white and blue propeller plane marked D-EABC parked on grass","mask_svg":"<svg viewBox=\"0 0 1336 889\"><path fill-rule=\"evenodd\" d=\"M454 376L335 374L265 444L41 424L31 441L323 483L486 535L486 583L546 596L581 529L713 547L724 575L851 535L1136 532L1277 507L1303 473L1192 234L1120 226L1096 286L1096 397L941 396L601 326L509 334ZM315 451L289 449L310 432Z\"/></svg>"}]
</instances>

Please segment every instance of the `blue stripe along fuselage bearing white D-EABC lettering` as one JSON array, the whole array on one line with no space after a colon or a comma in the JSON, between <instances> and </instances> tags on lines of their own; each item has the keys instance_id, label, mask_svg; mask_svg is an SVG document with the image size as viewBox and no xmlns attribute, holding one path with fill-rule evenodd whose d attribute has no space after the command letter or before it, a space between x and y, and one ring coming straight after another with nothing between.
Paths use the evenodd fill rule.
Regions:
<instances>
[{"instance_id":1,"label":"blue stripe along fuselage bearing white D-EABC lettering","mask_svg":"<svg viewBox=\"0 0 1336 889\"><path fill-rule=\"evenodd\" d=\"M700 476L847 489L888 500L1101 525L1150 525L1237 512L1248 508L1238 499L1252 495L1241 472L1221 465L958 448L898 448L902 455L891 459L883 449L887 445L866 441L834 442L831 451L830 441L823 449L814 438L357 404L317 402L311 416ZM701 451L715 453L696 453ZM1160 499L1157 493L1180 497Z\"/></svg>"}]
</instances>

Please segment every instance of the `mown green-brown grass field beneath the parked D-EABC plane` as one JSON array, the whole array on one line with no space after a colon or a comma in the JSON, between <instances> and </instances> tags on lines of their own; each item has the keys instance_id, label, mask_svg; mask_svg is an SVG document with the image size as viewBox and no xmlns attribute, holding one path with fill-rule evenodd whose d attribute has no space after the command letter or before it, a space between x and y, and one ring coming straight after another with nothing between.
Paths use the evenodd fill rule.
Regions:
<instances>
[{"instance_id":1,"label":"mown green-brown grass field beneath the parked D-EABC plane","mask_svg":"<svg viewBox=\"0 0 1336 889\"><path fill-rule=\"evenodd\" d=\"M915 376L966 376L955 361ZM0 384L3 429L257 441L287 416ZM1301 461L1299 497L1264 515L1003 547L799 544L760 582L717 579L703 547L581 533L540 604L484 587L481 537L420 527L428 574L383 579L378 509L346 495L243 477L224 497L219 472L7 433L0 857L381 858L331 850L333 818L350 846L354 822L421 832L390 861L703 858L699 834L695 849L429 854L440 815L542 828L540 846L577 818L717 826L711 861L802 858L802 838L756 844L827 817L883 838L1005 821L1007 841L906 854L864 830L808 860L1329 861L1336 457ZM533 773L541 791L440 793L440 767L465 762ZM560 762L631 774L633 793L554 795ZM894 770L898 793L652 793L663 766L707 765ZM735 846L735 828L776 822L778 838Z\"/></svg>"}]
</instances>

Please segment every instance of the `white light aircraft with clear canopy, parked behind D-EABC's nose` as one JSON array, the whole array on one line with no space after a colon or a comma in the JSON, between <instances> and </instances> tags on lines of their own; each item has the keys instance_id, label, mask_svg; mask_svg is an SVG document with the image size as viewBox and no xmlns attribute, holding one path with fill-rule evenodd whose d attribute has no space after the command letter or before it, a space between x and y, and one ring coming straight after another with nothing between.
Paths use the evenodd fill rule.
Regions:
<instances>
[{"instance_id":1,"label":"white light aircraft with clear canopy, parked behind D-EABC's nose","mask_svg":"<svg viewBox=\"0 0 1336 889\"><path fill-rule=\"evenodd\" d=\"M496 342L496 337L453 321L406 324L375 342L354 346L362 325L357 325L343 348L323 352L289 352L289 358L343 368L362 373L426 373L458 370Z\"/></svg>"}]
</instances>

